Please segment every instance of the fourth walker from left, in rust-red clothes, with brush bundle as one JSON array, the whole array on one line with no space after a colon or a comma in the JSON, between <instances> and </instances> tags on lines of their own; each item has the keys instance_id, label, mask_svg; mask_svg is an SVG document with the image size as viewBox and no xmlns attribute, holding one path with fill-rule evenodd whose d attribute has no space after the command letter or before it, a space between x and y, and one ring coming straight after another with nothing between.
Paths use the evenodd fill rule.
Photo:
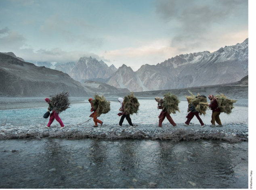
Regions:
<instances>
[{"instance_id":1,"label":"fourth walker from left, in rust-red clothes, with brush bundle","mask_svg":"<svg viewBox=\"0 0 256 190\"><path fill-rule=\"evenodd\" d=\"M157 109L162 109L162 112L158 116L159 118L159 127L162 127L162 123L165 118L168 119L170 124L172 124L174 127L176 126L176 123L173 121L172 117L170 116L171 113L176 113L176 111L180 112L180 109L178 108L178 103L180 101L178 100L178 97L171 93L166 93L163 98L155 97L155 101L157 101Z\"/></svg>"}]
</instances>

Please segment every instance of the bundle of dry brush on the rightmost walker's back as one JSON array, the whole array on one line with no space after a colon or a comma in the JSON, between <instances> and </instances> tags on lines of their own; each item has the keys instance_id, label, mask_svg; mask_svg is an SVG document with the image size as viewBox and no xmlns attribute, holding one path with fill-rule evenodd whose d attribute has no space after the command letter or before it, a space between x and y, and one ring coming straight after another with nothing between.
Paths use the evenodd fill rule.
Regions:
<instances>
[{"instance_id":1,"label":"bundle of dry brush on the rightmost walker's back","mask_svg":"<svg viewBox=\"0 0 256 190\"><path fill-rule=\"evenodd\" d=\"M224 94L216 95L215 97L218 107L220 108L220 112L231 114L232 109L234 108L233 103L237 102L237 100L228 99Z\"/></svg>"}]
</instances>

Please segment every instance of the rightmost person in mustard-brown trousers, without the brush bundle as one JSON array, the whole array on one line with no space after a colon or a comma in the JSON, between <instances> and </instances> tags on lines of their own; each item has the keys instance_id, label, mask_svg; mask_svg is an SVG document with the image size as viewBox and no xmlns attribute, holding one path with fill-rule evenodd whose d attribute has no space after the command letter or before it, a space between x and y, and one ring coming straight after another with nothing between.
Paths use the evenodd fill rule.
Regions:
<instances>
[{"instance_id":1,"label":"rightmost person in mustard-brown trousers, without the brush bundle","mask_svg":"<svg viewBox=\"0 0 256 190\"><path fill-rule=\"evenodd\" d=\"M217 99L214 95L209 95L208 98L210 99L209 107L212 109L212 126L215 126L215 121L217 124L219 124L220 127L222 127L221 121L220 121L220 108L218 107Z\"/></svg>"}]
</instances>

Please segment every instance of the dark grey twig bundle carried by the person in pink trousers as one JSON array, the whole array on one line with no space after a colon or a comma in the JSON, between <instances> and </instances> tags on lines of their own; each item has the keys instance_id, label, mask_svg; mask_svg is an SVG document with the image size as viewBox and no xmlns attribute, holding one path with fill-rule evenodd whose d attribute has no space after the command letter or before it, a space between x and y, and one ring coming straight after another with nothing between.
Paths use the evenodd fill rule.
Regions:
<instances>
[{"instance_id":1,"label":"dark grey twig bundle carried by the person in pink trousers","mask_svg":"<svg viewBox=\"0 0 256 190\"><path fill-rule=\"evenodd\" d=\"M52 105L52 110L55 110L56 113L61 113L69 108L69 93L62 92L55 96L50 96L51 101L50 104Z\"/></svg>"}]
</instances>

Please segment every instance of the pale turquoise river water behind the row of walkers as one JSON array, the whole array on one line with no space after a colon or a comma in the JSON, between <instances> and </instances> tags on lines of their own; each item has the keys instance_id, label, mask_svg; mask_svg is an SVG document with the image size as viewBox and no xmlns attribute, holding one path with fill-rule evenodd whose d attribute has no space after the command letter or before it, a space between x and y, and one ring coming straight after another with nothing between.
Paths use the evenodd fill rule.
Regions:
<instances>
[{"instance_id":1,"label":"pale turquoise river water behind the row of walkers","mask_svg":"<svg viewBox=\"0 0 256 190\"><path fill-rule=\"evenodd\" d=\"M65 112L60 114L60 118L63 123L68 126L72 124L80 124L89 119L91 114L90 104L87 103L72 104L70 108ZM157 109L157 102L153 100L139 99L140 107L138 114L131 115L132 122L134 124L158 124L158 116L161 112L160 109ZM111 110L107 114L102 114L99 119L104 121L105 124L118 124L120 117L117 115L119 113L120 103L118 101L111 101ZM179 104L180 112L176 114L171 114L174 122L184 123L187 116L187 101L181 101ZM38 108L28 108L28 109L8 109L0 110L0 124L7 123L13 124L14 126L29 126L29 125L46 125L49 119L44 119L43 115L47 111L47 103L45 107ZM211 124L211 114L212 111L208 110L206 116L200 116L204 124ZM232 113L220 114L220 120L222 124L227 123L247 123L248 122L248 107L235 106L232 110ZM193 118L191 123L199 124L197 118ZM124 121L124 124L127 124L127 121ZM164 120L163 124L169 124L168 120ZM55 120L52 125L59 126L59 123ZM90 120L88 125L94 125L94 122Z\"/></svg>"}]
</instances>

